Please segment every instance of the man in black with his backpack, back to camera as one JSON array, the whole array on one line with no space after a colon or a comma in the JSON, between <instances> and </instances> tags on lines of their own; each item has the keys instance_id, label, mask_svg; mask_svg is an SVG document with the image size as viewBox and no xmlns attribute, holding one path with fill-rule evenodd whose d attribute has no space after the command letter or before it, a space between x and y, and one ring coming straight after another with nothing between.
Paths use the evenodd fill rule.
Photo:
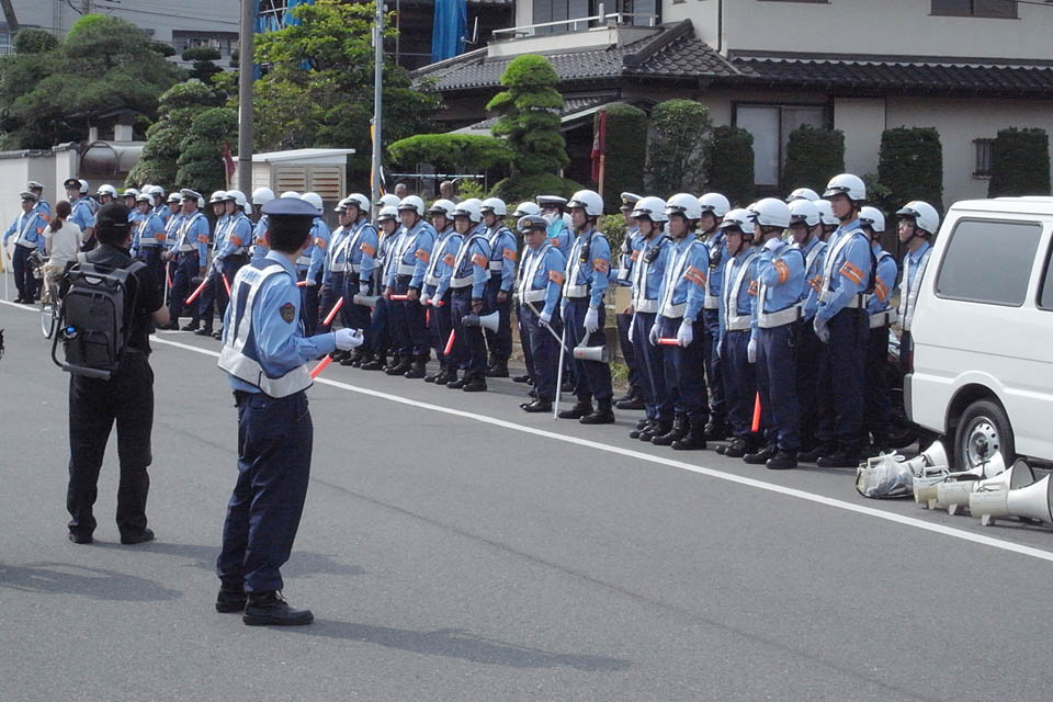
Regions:
<instances>
[{"instance_id":1,"label":"man in black with his backpack, back to camera","mask_svg":"<svg viewBox=\"0 0 1053 702\"><path fill-rule=\"evenodd\" d=\"M63 305L66 364L69 378L69 540L92 541L99 469L110 431L117 424L121 483L117 488L117 529L122 544L154 539L147 528L146 497L150 487L150 434L154 428L154 372L149 335L155 324L168 322L155 272L128 253L132 225L128 208L113 203L95 216L99 246L83 254L69 273L70 287ZM90 275L89 275L90 274ZM121 286L89 282L100 274L124 280ZM89 279L86 281L84 279ZM98 280L98 278L94 278ZM104 294L106 303L100 305ZM111 310L109 315L105 312ZM110 343L81 344L81 340L117 329Z\"/></svg>"}]
</instances>

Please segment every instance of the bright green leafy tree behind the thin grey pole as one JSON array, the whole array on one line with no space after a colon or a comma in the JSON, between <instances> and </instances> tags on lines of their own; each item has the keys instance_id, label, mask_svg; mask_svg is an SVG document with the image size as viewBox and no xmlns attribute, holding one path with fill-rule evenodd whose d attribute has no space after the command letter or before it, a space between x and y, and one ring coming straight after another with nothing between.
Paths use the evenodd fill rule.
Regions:
<instances>
[{"instance_id":1,"label":"bright green leafy tree behind the thin grey pole","mask_svg":"<svg viewBox=\"0 0 1053 702\"><path fill-rule=\"evenodd\" d=\"M257 35L256 63L265 71L253 99L258 150L348 147L355 149L351 170L369 172L374 11L373 3L317 0L296 7L298 24ZM394 37L394 22L387 26ZM438 93L415 89L404 68L385 61L384 145L429 132L441 105Z\"/></svg>"}]
</instances>

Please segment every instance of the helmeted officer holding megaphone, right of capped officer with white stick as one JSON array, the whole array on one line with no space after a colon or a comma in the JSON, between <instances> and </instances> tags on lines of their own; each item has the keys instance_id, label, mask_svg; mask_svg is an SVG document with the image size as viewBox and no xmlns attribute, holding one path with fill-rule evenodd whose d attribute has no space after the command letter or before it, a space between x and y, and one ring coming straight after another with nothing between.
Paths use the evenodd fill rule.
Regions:
<instances>
[{"instance_id":1,"label":"helmeted officer holding megaphone, right of capped officer with white stick","mask_svg":"<svg viewBox=\"0 0 1053 702\"><path fill-rule=\"evenodd\" d=\"M567 348L599 347L607 343L603 331L603 295L609 285L611 246L596 222L603 214L603 199L591 190L579 190L567 202L575 229L574 246L567 258L564 280L564 315ZM574 394L577 403L559 412L561 419L577 419L582 424L614 423L611 366L600 361L575 359ZM592 398L598 407L592 409Z\"/></svg>"}]
</instances>

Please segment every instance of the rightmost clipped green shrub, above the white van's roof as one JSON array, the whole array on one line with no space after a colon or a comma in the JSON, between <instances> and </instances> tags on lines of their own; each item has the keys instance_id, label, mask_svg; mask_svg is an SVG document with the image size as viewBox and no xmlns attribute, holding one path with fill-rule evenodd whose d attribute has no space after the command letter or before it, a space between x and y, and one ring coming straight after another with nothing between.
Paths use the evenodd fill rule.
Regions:
<instances>
[{"instance_id":1,"label":"rightmost clipped green shrub, above the white van's roof","mask_svg":"<svg viewBox=\"0 0 1053 702\"><path fill-rule=\"evenodd\" d=\"M1045 129L1003 129L990 155L988 197L1050 194L1050 138Z\"/></svg>"}]
</instances>

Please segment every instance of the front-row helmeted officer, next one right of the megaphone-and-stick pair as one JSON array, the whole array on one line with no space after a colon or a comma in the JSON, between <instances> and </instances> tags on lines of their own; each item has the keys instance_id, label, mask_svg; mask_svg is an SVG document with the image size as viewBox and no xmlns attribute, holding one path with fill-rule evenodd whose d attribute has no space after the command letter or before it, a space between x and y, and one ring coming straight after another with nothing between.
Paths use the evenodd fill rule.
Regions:
<instances>
[{"instance_id":1,"label":"front-row helmeted officer, next one right of the megaphone-and-stick pair","mask_svg":"<svg viewBox=\"0 0 1053 702\"><path fill-rule=\"evenodd\" d=\"M661 282L673 245L663 233L668 222L666 201L661 197L641 197L633 207L633 220L639 230L639 253L633 264L633 298L629 312L630 342L637 354L643 376L645 416L642 423L629 432L630 439L650 441L672 428L672 398L666 388L663 349L648 341L652 327L661 304Z\"/></svg>"}]
</instances>

